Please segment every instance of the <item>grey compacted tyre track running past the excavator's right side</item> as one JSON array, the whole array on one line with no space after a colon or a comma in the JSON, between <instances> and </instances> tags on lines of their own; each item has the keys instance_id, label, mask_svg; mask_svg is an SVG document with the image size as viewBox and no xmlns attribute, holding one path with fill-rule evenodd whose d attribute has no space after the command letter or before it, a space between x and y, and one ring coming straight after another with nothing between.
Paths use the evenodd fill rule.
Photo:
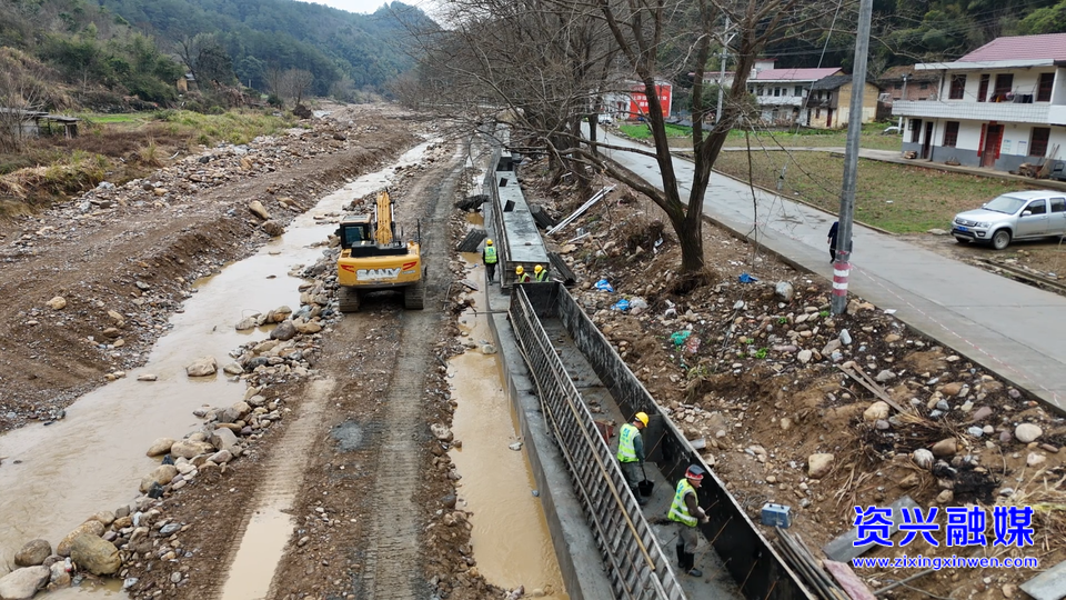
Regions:
<instances>
[{"instance_id":1,"label":"grey compacted tyre track running past the excavator's right side","mask_svg":"<svg viewBox=\"0 0 1066 600\"><path fill-rule=\"evenodd\" d=\"M419 543L420 508L415 499L422 476L422 444L428 436L423 416L424 373L436 364L433 331L441 327L440 307L445 293L447 249L444 223L461 174L461 156L453 154L436 179L426 173L406 193L424 198L432 239L424 246L426 263L426 309L402 316L399 356L384 398L382 440L373 489L373 514L364 553L361 598L408 600L424 598L429 590L421 580L423 557ZM438 169L434 169L438 171Z\"/></svg>"}]
</instances>

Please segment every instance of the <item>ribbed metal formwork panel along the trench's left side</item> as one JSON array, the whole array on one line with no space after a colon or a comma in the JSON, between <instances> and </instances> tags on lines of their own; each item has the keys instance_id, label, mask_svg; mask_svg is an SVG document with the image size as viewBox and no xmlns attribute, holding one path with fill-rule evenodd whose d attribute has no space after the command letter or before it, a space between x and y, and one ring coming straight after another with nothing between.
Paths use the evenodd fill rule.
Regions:
<instances>
[{"instance_id":1,"label":"ribbed metal formwork panel along the trench's left side","mask_svg":"<svg viewBox=\"0 0 1066 600\"><path fill-rule=\"evenodd\" d=\"M685 598L670 560L663 554L592 413L555 353L524 288L524 284L514 287L511 324L530 367L549 429L562 450L592 523L615 597Z\"/></svg>"}]
</instances>

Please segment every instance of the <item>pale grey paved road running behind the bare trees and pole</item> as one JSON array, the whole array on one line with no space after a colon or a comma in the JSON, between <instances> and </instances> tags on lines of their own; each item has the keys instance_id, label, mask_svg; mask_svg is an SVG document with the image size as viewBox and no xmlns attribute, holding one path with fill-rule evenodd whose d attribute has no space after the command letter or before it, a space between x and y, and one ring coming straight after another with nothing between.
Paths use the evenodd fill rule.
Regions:
<instances>
[{"instance_id":1,"label":"pale grey paved road running behind the bare trees and pole","mask_svg":"<svg viewBox=\"0 0 1066 600\"><path fill-rule=\"evenodd\" d=\"M637 146L613 136L607 142ZM611 156L662 188L653 159L622 151ZM674 168L683 182L682 198L687 198L692 163L675 159ZM835 216L753 192L720 173L711 177L704 212L832 279L826 233ZM861 226L855 227L852 293L895 309L902 321L1066 412L1066 298Z\"/></svg>"}]
</instances>

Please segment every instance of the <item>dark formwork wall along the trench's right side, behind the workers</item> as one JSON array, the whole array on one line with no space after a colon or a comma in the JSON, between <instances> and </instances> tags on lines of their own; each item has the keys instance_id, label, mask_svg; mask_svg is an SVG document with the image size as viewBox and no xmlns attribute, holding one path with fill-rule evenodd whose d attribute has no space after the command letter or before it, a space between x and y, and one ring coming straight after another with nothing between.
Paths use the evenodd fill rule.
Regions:
<instances>
[{"instance_id":1,"label":"dark formwork wall along the trench's right side, behind the workers","mask_svg":"<svg viewBox=\"0 0 1066 600\"><path fill-rule=\"evenodd\" d=\"M813 599L570 292L559 283L526 286L525 291L539 317L557 317L563 322L622 413L643 410L648 414L645 446L655 450L647 460L658 464L667 481L678 481L690 464L702 464L711 473L700 493L711 521L702 524L701 530L712 541L742 593L752 600Z\"/></svg>"}]
</instances>

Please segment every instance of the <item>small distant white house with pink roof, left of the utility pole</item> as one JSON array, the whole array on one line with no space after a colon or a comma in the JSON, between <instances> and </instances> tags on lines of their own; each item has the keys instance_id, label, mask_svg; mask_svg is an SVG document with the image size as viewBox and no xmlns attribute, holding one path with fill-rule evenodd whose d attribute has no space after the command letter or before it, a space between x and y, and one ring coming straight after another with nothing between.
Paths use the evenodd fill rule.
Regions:
<instances>
[{"instance_id":1,"label":"small distant white house with pink roof, left of the utility pole","mask_svg":"<svg viewBox=\"0 0 1066 600\"><path fill-rule=\"evenodd\" d=\"M841 73L839 67L824 69L774 69L773 59L755 61L747 90L758 102L760 119L767 126L807 124L805 101L815 81Z\"/></svg>"}]
</instances>

